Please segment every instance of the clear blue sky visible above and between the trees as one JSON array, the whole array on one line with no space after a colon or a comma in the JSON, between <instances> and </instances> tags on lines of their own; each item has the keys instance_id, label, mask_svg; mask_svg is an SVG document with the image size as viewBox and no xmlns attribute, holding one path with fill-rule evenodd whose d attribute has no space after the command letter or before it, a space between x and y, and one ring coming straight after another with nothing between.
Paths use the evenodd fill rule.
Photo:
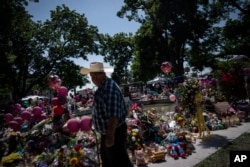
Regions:
<instances>
[{"instance_id":1,"label":"clear blue sky visible above and between the trees","mask_svg":"<svg viewBox=\"0 0 250 167\"><path fill-rule=\"evenodd\" d=\"M89 25L96 26L99 33L114 35L116 33L135 33L139 24L128 21L126 18L119 18L116 13L121 9L123 0L40 0L39 3L29 2L27 12L33 16L34 21L45 21L50 19L50 11L57 6L65 4L70 10L84 14ZM90 62L102 61L102 56L89 55L89 61L83 59L75 60L75 63L89 67ZM104 65L109 67L108 63ZM86 87L91 87L87 85Z\"/></svg>"}]
</instances>

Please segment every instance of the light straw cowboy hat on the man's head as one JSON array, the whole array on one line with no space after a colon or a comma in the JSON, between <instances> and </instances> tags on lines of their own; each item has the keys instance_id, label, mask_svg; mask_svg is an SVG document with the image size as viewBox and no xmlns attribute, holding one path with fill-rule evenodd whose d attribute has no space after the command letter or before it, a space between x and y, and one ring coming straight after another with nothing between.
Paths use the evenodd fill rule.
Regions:
<instances>
[{"instance_id":1,"label":"light straw cowboy hat on the man's head","mask_svg":"<svg viewBox=\"0 0 250 167\"><path fill-rule=\"evenodd\" d=\"M103 63L101 62L92 62L89 68L82 67L80 70L80 73L83 75L90 72L113 72L113 70L110 67L103 67Z\"/></svg>"}]
</instances>

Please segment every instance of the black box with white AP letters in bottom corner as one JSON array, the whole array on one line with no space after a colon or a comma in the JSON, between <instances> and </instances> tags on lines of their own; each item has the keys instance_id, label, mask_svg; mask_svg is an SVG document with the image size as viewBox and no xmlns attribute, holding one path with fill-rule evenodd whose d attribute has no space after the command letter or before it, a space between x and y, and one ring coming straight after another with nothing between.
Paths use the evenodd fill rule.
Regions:
<instances>
[{"instance_id":1,"label":"black box with white AP letters in bottom corner","mask_svg":"<svg viewBox=\"0 0 250 167\"><path fill-rule=\"evenodd\" d=\"M250 151L230 151L230 167L247 167L250 163Z\"/></svg>"}]
</instances>

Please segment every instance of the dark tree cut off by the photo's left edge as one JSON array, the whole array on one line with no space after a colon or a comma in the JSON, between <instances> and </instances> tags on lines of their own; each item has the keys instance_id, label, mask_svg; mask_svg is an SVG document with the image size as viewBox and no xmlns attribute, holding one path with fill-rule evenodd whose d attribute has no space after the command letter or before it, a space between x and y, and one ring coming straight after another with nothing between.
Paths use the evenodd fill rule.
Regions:
<instances>
[{"instance_id":1,"label":"dark tree cut off by the photo's left edge","mask_svg":"<svg viewBox=\"0 0 250 167\"><path fill-rule=\"evenodd\" d=\"M27 47L31 39L32 22L30 16L25 11L25 0L4 0L1 1L0 19L0 73L1 87L5 88L3 93L21 90L23 77L16 73L23 73L25 62L21 62L20 57L25 57L32 51ZM13 87L15 86L15 87Z\"/></svg>"}]
</instances>

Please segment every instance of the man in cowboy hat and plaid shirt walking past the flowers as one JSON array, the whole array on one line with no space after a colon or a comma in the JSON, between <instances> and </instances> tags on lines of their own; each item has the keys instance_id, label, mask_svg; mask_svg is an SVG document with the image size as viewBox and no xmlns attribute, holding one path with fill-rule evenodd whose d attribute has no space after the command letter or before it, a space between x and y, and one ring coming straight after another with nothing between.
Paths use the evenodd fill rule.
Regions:
<instances>
[{"instance_id":1,"label":"man in cowboy hat and plaid shirt walking past the flowers","mask_svg":"<svg viewBox=\"0 0 250 167\"><path fill-rule=\"evenodd\" d=\"M127 152L127 107L121 90L106 76L103 63L93 62L90 68L81 68L81 74L90 74L97 86L94 94L92 119L101 134L102 167L132 167Z\"/></svg>"}]
</instances>

